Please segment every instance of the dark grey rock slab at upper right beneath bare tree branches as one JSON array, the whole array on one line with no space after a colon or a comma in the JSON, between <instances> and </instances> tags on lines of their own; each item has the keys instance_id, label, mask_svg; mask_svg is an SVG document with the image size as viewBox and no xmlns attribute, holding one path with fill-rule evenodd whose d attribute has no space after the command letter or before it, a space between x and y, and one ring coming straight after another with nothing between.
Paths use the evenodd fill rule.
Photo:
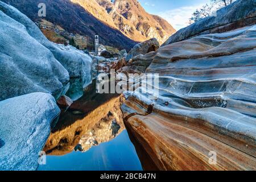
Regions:
<instances>
[{"instance_id":1,"label":"dark grey rock slab at upper right beneath bare tree branches","mask_svg":"<svg viewBox=\"0 0 256 182\"><path fill-rule=\"evenodd\" d=\"M256 24L256 0L238 0L216 14L177 31L162 47L193 36L226 32L253 24Z\"/></svg>"}]
</instances>

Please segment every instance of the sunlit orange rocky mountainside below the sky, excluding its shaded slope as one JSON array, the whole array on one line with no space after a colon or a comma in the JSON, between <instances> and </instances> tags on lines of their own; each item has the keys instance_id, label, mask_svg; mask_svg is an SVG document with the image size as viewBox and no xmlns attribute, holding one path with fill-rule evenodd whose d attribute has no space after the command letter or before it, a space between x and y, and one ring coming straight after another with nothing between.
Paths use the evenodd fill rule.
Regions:
<instances>
[{"instance_id":1,"label":"sunlit orange rocky mountainside below the sky, excluding its shaded slope","mask_svg":"<svg viewBox=\"0 0 256 182\"><path fill-rule=\"evenodd\" d=\"M81 2L81 0L72 1ZM148 14L137 0L96 1L112 18L112 21L108 18L105 22L114 23L118 30L137 42L156 38L162 44L175 33L175 29L166 20L157 15Z\"/></svg>"}]
</instances>

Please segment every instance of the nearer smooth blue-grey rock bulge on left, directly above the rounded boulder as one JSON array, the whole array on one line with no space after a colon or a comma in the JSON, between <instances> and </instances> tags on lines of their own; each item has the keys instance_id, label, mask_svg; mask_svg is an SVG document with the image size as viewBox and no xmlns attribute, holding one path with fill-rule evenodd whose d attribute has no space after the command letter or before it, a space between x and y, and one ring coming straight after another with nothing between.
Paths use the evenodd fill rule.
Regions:
<instances>
[{"instance_id":1,"label":"nearer smooth blue-grey rock bulge on left, directly above the rounded boulder","mask_svg":"<svg viewBox=\"0 0 256 182\"><path fill-rule=\"evenodd\" d=\"M69 85L67 70L51 51L32 38L23 24L2 11L0 72L0 101L32 92L59 98Z\"/></svg>"}]
</instances>

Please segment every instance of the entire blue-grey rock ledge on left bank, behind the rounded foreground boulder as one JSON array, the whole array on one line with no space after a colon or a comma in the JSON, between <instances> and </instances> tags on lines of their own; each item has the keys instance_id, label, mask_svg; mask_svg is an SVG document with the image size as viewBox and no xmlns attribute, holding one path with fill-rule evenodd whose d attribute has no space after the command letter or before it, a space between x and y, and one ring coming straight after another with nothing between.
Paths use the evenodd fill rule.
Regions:
<instances>
[{"instance_id":1,"label":"entire blue-grey rock ledge on left bank, behind the rounded foreground boulder","mask_svg":"<svg viewBox=\"0 0 256 182\"><path fill-rule=\"evenodd\" d=\"M90 56L50 42L26 15L1 1L0 20L0 100L32 92L51 93L57 99L68 89L81 93L90 84ZM81 94L68 97L77 100Z\"/></svg>"}]
</instances>

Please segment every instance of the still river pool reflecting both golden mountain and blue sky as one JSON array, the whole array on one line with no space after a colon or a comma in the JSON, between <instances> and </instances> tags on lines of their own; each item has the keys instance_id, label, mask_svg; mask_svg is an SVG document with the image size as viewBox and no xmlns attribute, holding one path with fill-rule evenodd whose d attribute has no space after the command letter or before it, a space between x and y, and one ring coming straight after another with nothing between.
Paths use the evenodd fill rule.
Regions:
<instances>
[{"instance_id":1,"label":"still river pool reflecting both golden mountain and blue sky","mask_svg":"<svg viewBox=\"0 0 256 182\"><path fill-rule=\"evenodd\" d=\"M124 98L97 94L92 84L84 96L60 115L44 151L49 170L142 170L122 120Z\"/></svg>"}]
</instances>

